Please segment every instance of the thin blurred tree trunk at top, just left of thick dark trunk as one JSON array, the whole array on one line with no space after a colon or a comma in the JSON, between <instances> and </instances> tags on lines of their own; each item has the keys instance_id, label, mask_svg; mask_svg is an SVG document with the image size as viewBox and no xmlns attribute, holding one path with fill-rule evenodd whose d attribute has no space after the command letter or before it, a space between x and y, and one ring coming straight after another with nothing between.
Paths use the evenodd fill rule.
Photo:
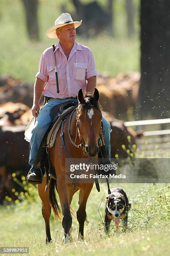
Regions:
<instances>
[{"instance_id":1,"label":"thin blurred tree trunk at top, just left of thick dark trunk","mask_svg":"<svg viewBox=\"0 0 170 256\"><path fill-rule=\"evenodd\" d=\"M134 34L134 3L133 0L126 0L125 8L127 13L127 36L130 38Z\"/></svg>"}]
</instances>

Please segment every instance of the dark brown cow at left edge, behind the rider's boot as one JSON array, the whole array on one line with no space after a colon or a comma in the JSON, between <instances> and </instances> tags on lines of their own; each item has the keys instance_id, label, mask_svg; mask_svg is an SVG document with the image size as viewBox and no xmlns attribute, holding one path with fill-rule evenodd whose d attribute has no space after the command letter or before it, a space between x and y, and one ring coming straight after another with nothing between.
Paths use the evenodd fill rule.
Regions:
<instances>
[{"instance_id":1,"label":"dark brown cow at left edge, behind the rider's boot","mask_svg":"<svg viewBox=\"0 0 170 256\"><path fill-rule=\"evenodd\" d=\"M23 190L13 181L12 174L15 172L20 179L20 175L26 176L30 169L28 142L24 140L24 132L25 125L0 128L0 204L5 195L15 198L12 188L17 188L19 192Z\"/></svg>"}]
</instances>

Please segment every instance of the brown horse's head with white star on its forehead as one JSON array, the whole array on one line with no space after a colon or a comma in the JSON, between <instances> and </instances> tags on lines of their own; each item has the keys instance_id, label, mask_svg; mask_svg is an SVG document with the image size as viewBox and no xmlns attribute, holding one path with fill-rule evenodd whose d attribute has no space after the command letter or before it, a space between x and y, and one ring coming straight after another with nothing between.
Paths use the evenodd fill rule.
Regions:
<instances>
[{"instance_id":1,"label":"brown horse's head with white star on its forehead","mask_svg":"<svg viewBox=\"0 0 170 256\"><path fill-rule=\"evenodd\" d=\"M99 92L95 88L94 95L83 95L82 89L78 94L79 105L77 108L77 128L81 145L86 149L89 157L99 153L99 141L101 134L101 110L98 104Z\"/></svg>"}]
</instances>

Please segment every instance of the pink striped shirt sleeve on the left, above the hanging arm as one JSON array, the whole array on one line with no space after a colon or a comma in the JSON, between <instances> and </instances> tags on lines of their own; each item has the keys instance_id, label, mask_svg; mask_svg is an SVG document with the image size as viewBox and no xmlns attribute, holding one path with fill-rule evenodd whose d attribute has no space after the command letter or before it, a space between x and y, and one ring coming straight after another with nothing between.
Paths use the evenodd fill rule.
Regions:
<instances>
[{"instance_id":1,"label":"pink striped shirt sleeve on the left, above the hanging arm","mask_svg":"<svg viewBox=\"0 0 170 256\"><path fill-rule=\"evenodd\" d=\"M44 52L40 58L39 71L37 72L36 77L42 79L44 82L48 82L47 59Z\"/></svg>"}]
</instances>

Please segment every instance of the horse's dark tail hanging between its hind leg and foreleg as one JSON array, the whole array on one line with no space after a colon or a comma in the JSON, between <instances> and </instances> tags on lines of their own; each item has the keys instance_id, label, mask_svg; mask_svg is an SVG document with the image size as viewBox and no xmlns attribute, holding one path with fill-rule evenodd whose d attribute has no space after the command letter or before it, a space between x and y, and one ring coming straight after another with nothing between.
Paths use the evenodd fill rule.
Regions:
<instances>
[{"instance_id":1,"label":"horse's dark tail hanging between its hind leg and foreleg","mask_svg":"<svg viewBox=\"0 0 170 256\"><path fill-rule=\"evenodd\" d=\"M57 181L56 179L51 179L50 191L49 191L50 205L54 212L54 219L56 220L57 218L58 220L61 220L61 210L57 202L56 190L57 190Z\"/></svg>"}]
</instances>

